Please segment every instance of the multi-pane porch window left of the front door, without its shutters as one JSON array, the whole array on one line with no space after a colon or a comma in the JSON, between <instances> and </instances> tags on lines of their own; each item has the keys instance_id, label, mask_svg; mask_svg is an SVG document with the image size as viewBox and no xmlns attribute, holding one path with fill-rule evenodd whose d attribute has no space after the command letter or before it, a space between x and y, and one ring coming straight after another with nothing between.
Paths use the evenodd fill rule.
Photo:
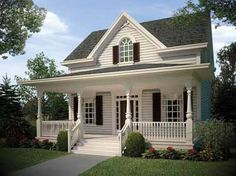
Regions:
<instances>
[{"instance_id":1,"label":"multi-pane porch window left of the front door, without its shutters","mask_svg":"<svg viewBox=\"0 0 236 176\"><path fill-rule=\"evenodd\" d=\"M95 100L85 99L84 100L84 122L85 124L96 124L95 118Z\"/></svg>"}]
</instances>

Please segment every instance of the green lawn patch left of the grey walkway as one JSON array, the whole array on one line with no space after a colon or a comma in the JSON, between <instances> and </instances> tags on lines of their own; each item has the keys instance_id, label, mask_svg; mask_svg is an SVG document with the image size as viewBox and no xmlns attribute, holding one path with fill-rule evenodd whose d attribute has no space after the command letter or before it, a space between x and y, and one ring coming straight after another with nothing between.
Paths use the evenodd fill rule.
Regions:
<instances>
[{"instance_id":1,"label":"green lawn patch left of the grey walkway","mask_svg":"<svg viewBox=\"0 0 236 176\"><path fill-rule=\"evenodd\" d=\"M0 175L66 154L65 152L32 148L0 148Z\"/></svg>"}]
</instances>

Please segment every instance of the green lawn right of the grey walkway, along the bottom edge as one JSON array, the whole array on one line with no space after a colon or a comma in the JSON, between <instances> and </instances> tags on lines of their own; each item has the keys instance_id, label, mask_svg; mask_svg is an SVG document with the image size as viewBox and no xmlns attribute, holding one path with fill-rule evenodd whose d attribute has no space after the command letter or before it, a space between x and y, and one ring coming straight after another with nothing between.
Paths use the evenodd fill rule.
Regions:
<instances>
[{"instance_id":1,"label":"green lawn right of the grey walkway, along the bottom edge","mask_svg":"<svg viewBox=\"0 0 236 176\"><path fill-rule=\"evenodd\" d=\"M81 176L233 176L236 175L235 167L236 159L225 162L200 162L114 157L84 172Z\"/></svg>"}]
</instances>

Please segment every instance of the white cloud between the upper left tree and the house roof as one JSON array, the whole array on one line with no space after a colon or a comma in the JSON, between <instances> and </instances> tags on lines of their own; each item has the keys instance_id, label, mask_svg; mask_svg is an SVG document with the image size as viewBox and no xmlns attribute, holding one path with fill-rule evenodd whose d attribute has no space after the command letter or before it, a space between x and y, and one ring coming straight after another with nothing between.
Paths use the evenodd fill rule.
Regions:
<instances>
[{"instance_id":1,"label":"white cloud between the upper left tree and the house roof","mask_svg":"<svg viewBox=\"0 0 236 176\"><path fill-rule=\"evenodd\" d=\"M50 59L55 59L59 69L60 62L79 44L81 40L70 31L70 26L57 14L48 11L43 26L39 33L33 34L26 41L24 55L9 56L7 60L0 60L0 82L6 73L14 79L15 75L25 76L27 60L34 58L36 54L44 52ZM9 68L11 68L9 70Z\"/></svg>"}]
</instances>

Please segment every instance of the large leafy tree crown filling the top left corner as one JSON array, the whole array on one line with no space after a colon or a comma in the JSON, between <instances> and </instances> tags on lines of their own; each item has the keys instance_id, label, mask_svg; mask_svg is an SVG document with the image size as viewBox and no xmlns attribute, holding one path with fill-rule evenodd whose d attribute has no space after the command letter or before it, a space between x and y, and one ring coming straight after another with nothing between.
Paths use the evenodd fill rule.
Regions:
<instances>
[{"instance_id":1,"label":"large leafy tree crown filling the top left corner","mask_svg":"<svg viewBox=\"0 0 236 176\"><path fill-rule=\"evenodd\" d=\"M27 38L40 31L46 10L32 0L0 0L0 55L24 54Z\"/></svg>"}]
</instances>

